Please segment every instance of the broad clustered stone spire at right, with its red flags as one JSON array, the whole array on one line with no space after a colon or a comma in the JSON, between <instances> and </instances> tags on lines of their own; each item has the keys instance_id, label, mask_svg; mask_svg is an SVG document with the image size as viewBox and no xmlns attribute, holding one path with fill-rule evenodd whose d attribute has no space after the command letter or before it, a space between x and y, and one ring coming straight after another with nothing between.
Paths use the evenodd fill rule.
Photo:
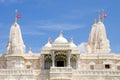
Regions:
<instances>
[{"instance_id":1,"label":"broad clustered stone spire at right, with its red flags","mask_svg":"<svg viewBox=\"0 0 120 80\"><path fill-rule=\"evenodd\" d=\"M106 15L100 15L98 12L99 22L94 24L91 28L89 35L88 43L86 45L86 51L88 53L109 53L110 52L110 43L106 35L106 29L101 19Z\"/></svg>"}]
</instances>

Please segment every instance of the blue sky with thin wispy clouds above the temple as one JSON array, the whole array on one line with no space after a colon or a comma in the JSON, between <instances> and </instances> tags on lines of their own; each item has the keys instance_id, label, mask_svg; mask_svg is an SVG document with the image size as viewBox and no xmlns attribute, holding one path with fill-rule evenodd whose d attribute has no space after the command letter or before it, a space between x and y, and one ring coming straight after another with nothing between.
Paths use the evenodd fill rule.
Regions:
<instances>
[{"instance_id":1,"label":"blue sky with thin wispy clouds above the temple","mask_svg":"<svg viewBox=\"0 0 120 80\"><path fill-rule=\"evenodd\" d=\"M83 45L97 12L104 9L104 20L111 52L120 53L120 0L0 0L0 53L6 53L11 25L14 23L15 10L21 15L18 20L26 52L29 47L39 53L50 37L52 41L60 31L76 45Z\"/></svg>"}]
</instances>

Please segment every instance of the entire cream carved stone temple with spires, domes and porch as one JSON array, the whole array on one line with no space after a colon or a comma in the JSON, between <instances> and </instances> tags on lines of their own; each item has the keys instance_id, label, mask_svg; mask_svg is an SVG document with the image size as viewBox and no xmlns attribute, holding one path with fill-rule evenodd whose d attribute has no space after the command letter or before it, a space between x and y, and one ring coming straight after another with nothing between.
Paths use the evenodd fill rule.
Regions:
<instances>
[{"instance_id":1,"label":"entire cream carved stone temple with spires, domes and porch","mask_svg":"<svg viewBox=\"0 0 120 80\"><path fill-rule=\"evenodd\" d=\"M94 23L86 52L62 33L41 52L25 53L20 26L12 25L6 54L0 55L0 80L120 80L120 55L110 53L102 21Z\"/></svg>"}]
</instances>

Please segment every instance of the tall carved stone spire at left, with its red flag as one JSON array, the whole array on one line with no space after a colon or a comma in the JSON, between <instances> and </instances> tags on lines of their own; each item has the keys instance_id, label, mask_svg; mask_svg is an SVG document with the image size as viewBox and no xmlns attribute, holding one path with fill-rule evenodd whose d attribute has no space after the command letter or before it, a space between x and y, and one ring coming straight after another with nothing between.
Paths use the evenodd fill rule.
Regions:
<instances>
[{"instance_id":1,"label":"tall carved stone spire at left, with its red flag","mask_svg":"<svg viewBox=\"0 0 120 80\"><path fill-rule=\"evenodd\" d=\"M20 18L20 15L16 11L15 22L11 26L9 41L7 44L7 53L8 54L24 54L25 45L22 39L22 33L17 19Z\"/></svg>"}]
</instances>

